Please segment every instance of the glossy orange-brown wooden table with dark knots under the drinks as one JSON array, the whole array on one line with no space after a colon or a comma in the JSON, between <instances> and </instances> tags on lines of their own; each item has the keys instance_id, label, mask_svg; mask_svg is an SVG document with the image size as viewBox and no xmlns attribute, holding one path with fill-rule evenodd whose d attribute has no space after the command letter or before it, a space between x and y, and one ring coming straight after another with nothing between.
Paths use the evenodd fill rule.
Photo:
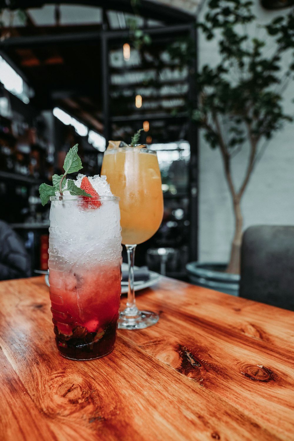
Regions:
<instances>
[{"instance_id":1,"label":"glossy orange-brown wooden table with dark knots under the drinks","mask_svg":"<svg viewBox=\"0 0 294 441\"><path fill-rule=\"evenodd\" d=\"M168 278L137 303L160 321L76 362L44 277L0 282L1 441L294 440L293 312Z\"/></svg>"}]
</instances>

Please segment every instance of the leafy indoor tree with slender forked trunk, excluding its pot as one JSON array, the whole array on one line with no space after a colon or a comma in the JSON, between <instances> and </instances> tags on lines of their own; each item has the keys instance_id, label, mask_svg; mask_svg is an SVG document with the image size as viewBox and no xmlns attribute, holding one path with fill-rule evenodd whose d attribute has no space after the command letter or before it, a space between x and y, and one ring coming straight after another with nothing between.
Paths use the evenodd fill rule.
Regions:
<instances>
[{"instance_id":1,"label":"leafy indoor tree with slender forked trunk, excluding its pot","mask_svg":"<svg viewBox=\"0 0 294 441\"><path fill-rule=\"evenodd\" d=\"M268 141L283 123L292 121L283 112L282 93L293 81L294 13L291 9L259 26L264 37L258 38L249 32L256 23L251 1L211 0L208 7L204 21L197 26L208 40L218 39L220 61L197 72L198 102L196 109L191 103L191 114L204 129L209 145L220 149L235 219L227 272L238 273L242 196ZM282 58L284 64L287 59L286 69ZM248 162L242 183L236 187L231 160L244 148L248 149Z\"/></svg>"}]
</instances>

